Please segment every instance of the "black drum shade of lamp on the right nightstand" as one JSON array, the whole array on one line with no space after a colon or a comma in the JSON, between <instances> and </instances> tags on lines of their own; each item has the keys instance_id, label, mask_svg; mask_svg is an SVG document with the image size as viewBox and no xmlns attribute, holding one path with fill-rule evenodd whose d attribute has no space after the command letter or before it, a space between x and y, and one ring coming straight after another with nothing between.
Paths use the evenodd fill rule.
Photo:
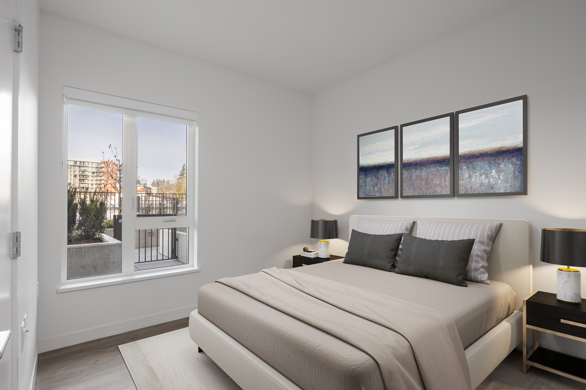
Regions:
<instances>
[{"instance_id":1,"label":"black drum shade of lamp on the right nightstand","mask_svg":"<svg viewBox=\"0 0 586 390\"><path fill-rule=\"evenodd\" d=\"M541 229L541 256L545 263L586 267L586 230Z\"/></svg>"}]
</instances>

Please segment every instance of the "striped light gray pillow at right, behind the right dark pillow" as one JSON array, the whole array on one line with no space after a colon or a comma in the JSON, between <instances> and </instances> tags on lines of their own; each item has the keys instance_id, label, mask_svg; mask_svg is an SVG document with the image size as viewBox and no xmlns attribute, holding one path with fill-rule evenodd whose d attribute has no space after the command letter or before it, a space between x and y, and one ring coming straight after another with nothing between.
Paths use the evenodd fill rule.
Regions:
<instances>
[{"instance_id":1,"label":"striped light gray pillow at right, behind the right dark pillow","mask_svg":"<svg viewBox=\"0 0 586 390\"><path fill-rule=\"evenodd\" d=\"M489 285L488 255L501 223L453 223L419 221L417 237L428 240L462 240L475 238L474 247L466 267L466 279Z\"/></svg>"}]
</instances>

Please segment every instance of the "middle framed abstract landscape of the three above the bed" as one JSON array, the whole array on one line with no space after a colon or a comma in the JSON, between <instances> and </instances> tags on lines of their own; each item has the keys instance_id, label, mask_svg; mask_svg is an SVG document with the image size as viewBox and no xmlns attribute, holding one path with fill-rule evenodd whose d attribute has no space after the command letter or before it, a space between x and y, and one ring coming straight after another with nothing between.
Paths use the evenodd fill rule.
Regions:
<instances>
[{"instance_id":1,"label":"middle framed abstract landscape of the three above the bed","mask_svg":"<svg viewBox=\"0 0 586 390\"><path fill-rule=\"evenodd\" d=\"M401 125L401 198L454 196L454 112Z\"/></svg>"}]
</instances>

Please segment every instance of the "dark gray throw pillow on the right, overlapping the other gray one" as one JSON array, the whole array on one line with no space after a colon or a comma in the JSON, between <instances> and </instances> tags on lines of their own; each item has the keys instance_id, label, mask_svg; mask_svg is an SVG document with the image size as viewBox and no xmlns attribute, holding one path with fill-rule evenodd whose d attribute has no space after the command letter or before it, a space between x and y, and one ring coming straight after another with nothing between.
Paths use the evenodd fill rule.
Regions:
<instances>
[{"instance_id":1,"label":"dark gray throw pillow on the right, overlapping the other gray one","mask_svg":"<svg viewBox=\"0 0 586 390\"><path fill-rule=\"evenodd\" d=\"M426 240L406 234L395 272L468 287L466 265L474 240Z\"/></svg>"}]
</instances>

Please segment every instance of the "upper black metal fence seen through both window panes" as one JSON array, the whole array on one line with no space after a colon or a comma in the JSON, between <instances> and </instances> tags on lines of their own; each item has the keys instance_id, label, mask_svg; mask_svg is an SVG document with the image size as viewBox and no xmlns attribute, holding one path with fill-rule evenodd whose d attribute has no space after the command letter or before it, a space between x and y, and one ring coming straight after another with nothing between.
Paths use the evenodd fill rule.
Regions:
<instances>
[{"instance_id":1,"label":"upper black metal fence seen through both window panes","mask_svg":"<svg viewBox=\"0 0 586 390\"><path fill-rule=\"evenodd\" d=\"M89 197L93 191L78 191L77 201ZM114 215L122 214L122 194L119 192L101 193L106 201L106 218L113 220ZM137 217L163 215L186 215L186 194L137 193Z\"/></svg>"}]
</instances>

